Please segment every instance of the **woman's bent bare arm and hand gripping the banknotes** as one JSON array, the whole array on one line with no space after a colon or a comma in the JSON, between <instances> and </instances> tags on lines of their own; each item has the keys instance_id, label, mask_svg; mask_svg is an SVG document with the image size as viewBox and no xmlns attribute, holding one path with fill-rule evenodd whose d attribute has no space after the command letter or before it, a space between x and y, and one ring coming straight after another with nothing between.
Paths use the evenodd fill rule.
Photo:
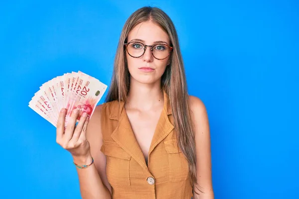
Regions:
<instances>
[{"instance_id":1,"label":"woman's bent bare arm and hand gripping the banknotes","mask_svg":"<svg viewBox=\"0 0 299 199\"><path fill-rule=\"evenodd\" d=\"M97 106L90 121L81 116L77 126L78 112L73 111L64 130L65 111L61 111L56 130L56 141L68 150L78 165L94 164L77 168L82 199L111 199L111 186L106 177L106 157L100 151L102 146L101 111Z\"/></svg>"}]
</instances>

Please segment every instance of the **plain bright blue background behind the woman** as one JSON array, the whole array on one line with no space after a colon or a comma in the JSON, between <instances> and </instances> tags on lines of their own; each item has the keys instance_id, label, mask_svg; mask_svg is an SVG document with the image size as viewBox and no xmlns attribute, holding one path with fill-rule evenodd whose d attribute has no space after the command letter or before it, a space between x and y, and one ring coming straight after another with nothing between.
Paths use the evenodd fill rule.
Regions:
<instances>
[{"instance_id":1,"label":"plain bright blue background behind the woman","mask_svg":"<svg viewBox=\"0 0 299 199\"><path fill-rule=\"evenodd\" d=\"M298 199L296 0L3 1L0 198L81 198L71 155L27 104L66 72L109 85L121 29L144 5L172 18L189 94L207 107L215 198Z\"/></svg>"}]
</instances>

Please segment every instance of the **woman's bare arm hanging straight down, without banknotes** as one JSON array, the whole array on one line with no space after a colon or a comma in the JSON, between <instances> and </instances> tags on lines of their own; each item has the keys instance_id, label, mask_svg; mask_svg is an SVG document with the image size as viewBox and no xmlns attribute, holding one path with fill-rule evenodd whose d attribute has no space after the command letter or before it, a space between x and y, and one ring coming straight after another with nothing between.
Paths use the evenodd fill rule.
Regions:
<instances>
[{"instance_id":1,"label":"woman's bare arm hanging straight down, without banknotes","mask_svg":"<svg viewBox=\"0 0 299 199\"><path fill-rule=\"evenodd\" d=\"M194 199L214 199L212 186L211 143L207 111L203 102L193 96L189 97L191 118L195 127L196 143L196 177L200 190ZM196 189L196 188L194 188Z\"/></svg>"}]
</instances>

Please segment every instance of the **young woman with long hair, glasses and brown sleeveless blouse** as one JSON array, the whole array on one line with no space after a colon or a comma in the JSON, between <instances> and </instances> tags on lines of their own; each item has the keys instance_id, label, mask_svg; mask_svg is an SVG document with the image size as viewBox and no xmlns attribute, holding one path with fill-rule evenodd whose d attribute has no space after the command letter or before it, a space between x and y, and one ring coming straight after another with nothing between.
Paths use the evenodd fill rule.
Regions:
<instances>
[{"instance_id":1,"label":"young woman with long hair, glasses and brown sleeveless blouse","mask_svg":"<svg viewBox=\"0 0 299 199\"><path fill-rule=\"evenodd\" d=\"M168 15L142 7L127 20L106 102L57 143L73 156L83 199L214 199L203 102L188 96L177 33Z\"/></svg>"}]
</instances>

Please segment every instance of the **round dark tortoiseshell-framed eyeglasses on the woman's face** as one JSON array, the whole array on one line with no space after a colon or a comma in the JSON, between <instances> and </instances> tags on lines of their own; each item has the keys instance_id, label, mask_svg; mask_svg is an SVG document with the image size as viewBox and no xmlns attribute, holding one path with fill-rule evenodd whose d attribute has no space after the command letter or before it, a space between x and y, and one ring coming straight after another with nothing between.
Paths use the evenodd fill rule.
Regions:
<instances>
[{"instance_id":1,"label":"round dark tortoiseshell-framed eyeglasses on the woman's face","mask_svg":"<svg viewBox=\"0 0 299 199\"><path fill-rule=\"evenodd\" d=\"M163 43L149 46L141 42L132 41L129 43L125 43L124 45L126 46L128 54L134 58L143 56L147 50L147 47L150 47L152 56L158 60L166 59L173 49L173 47Z\"/></svg>"}]
</instances>

